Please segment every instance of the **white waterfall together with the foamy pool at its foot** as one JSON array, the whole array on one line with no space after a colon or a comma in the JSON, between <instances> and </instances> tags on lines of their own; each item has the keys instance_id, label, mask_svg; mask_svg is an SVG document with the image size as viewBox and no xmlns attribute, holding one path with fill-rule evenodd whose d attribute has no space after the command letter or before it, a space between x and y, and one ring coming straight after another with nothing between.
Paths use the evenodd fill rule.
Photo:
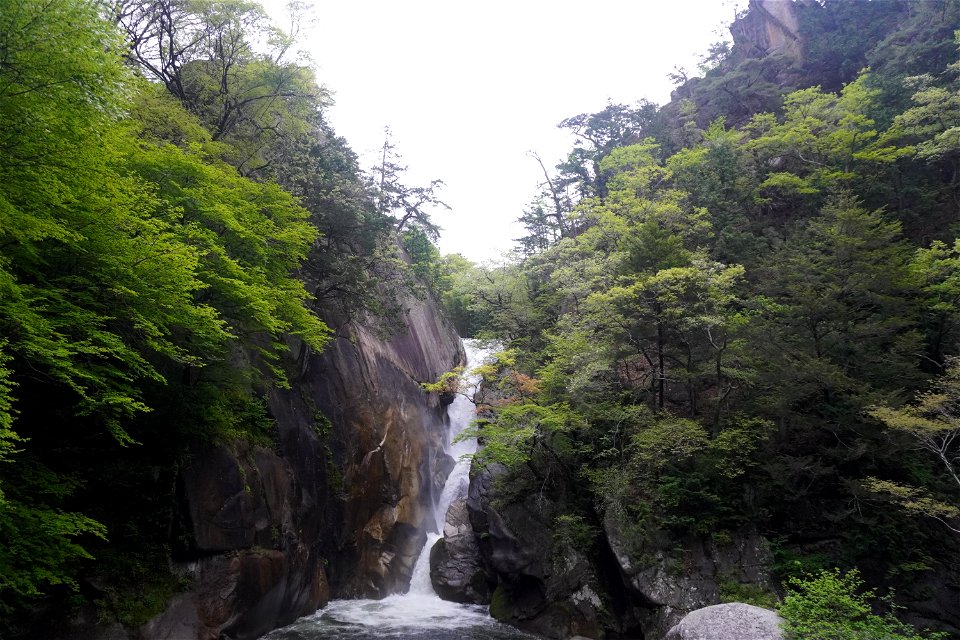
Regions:
<instances>
[{"instance_id":1,"label":"white waterfall together with the foamy pool at its foot","mask_svg":"<svg viewBox=\"0 0 960 640\"><path fill-rule=\"evenodd\" d=\"M480 364L486 352L471 341L464 341L467 370ZM474 384L475 381L471 381ZM471 387L469 393L472 393ZM448 407L449 441L474 418L473 403L457 395ZM465 455L475 452L476 440L450 444L447 453L457 461L437 502L437 530L450 504L465 496L469 484L470 462ZM441 534L431 533L413 569L410 589L382 600L333 600L311 616L271 631L262 640L530 640L530 636L490 617L484 605L466 605L441 600L430 583L430 549Z\"/></svg>"}]
</instances>

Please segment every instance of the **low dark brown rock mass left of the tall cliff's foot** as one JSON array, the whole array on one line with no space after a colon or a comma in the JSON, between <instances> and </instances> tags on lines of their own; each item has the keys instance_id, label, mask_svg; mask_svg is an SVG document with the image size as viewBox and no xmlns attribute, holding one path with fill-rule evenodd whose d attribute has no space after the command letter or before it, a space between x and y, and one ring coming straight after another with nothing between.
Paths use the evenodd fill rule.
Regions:
<instances>
[{"instance_id":1,"label":"low dark brown rock mass left of the tall cliff's foot","mask_svg":"<svg viewBox=\"0 0 960 640\"><path fill-rule=\"evenodd\" d=\"M326 603L325 562L302 535L304 494L290 460L264 446L201 450L178 493L175 569L192 588L143 638L256 638Z\"/></svg>"}]
</instances>

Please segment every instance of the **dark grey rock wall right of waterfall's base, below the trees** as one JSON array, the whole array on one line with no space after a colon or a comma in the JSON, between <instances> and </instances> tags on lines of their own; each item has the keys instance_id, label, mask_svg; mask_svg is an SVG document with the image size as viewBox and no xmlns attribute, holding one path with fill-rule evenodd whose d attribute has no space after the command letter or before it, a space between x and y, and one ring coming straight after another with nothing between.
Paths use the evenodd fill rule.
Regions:
<instances>
[{"instance_id":1,"label":"dark grey rock wall right of waterfall's base, below the trees","mask_svg":"<svg viewBox=\"0 0 960 640\"><path fill-rule=\"evenodd\" d=\"M456 503L448 513L445 538L431 554L431 577L445 599L484 603L493 589L495 618L549 638L659 640L688 613L718 604L724 587L774 591L769 546L756 532L722 541L646 532L638 544L615 513L591 522L581 510L565 535L563 518L578 510L573 491L503 495L497 478L505 473L497 466L474 473L468 526Z\"/></svg>"}]
</instances>

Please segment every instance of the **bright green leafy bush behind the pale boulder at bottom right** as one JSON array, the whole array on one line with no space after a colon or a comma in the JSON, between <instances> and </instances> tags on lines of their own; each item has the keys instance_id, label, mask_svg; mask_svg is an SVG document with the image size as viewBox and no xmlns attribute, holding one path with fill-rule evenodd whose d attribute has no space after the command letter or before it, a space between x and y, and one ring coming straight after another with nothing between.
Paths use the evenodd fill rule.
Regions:
<instances>
[{"instance_id":1,"label":"bright green leafy bush behind the pale boulder at bottom right","mask_svg":"<svg viewBox=\"0 0 960 640\"><path fill-rule=\"evenodd\" d=\"M946 634L919 633L901 623L892 613L873 613L876 592L863 589L854 569L821 571L805 578L792 578L780 605L784 630L791 640L859 640L889 638L920 640L946 638Z\"/></svg>"}]
</instances>

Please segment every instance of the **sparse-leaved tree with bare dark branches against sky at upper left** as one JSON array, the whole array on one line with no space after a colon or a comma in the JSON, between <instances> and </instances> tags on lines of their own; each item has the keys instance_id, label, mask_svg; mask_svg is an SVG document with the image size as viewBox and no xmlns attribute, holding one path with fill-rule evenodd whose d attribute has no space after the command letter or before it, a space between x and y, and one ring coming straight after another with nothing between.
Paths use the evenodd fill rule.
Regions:
<instances>
[{"instance_id":1,"label":"sparse-leaved tree with bare dark branches against sky at upper left","mask_svg":"<svg viewBox=\"0 0 960 640\"><path fill-rule=\"evenodd\" d=\"M214 140L230 142L229 161L244 175L268 174L265 151L308 132L329 98L307 66L286 59L292 37L256 2L123 0L115 10L129 57Z\"/></svg>"}]
</instances>

